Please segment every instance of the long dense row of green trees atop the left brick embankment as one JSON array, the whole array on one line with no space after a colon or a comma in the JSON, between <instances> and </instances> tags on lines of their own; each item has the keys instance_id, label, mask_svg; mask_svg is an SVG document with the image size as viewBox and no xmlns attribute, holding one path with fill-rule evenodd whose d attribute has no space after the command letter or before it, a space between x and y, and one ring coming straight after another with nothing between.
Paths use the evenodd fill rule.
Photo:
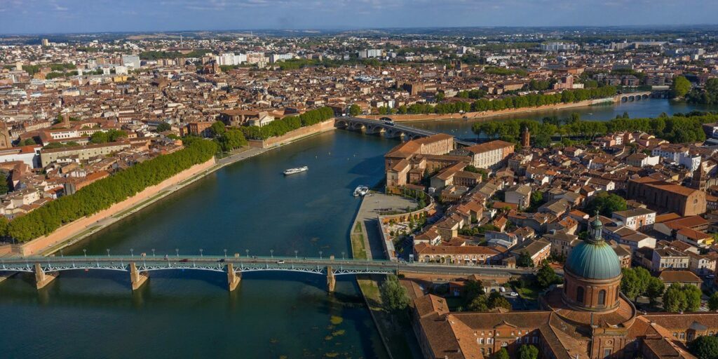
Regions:
<instances>
[{"instance_id":1,"label":"long dense row of green trees atop the left brick embankment","mask_svg":"<svg viewBox=\"0 0 718 359\"><path fill-rule=\"evenodd\" d=\"M61 225L105 210L146 187L157 185L195 164L206 162L217 152L217 145L213 141L186 138L185 145L185 149L136 164L93 182L74 195L60 197L27 215L15 218L6 228L0 228L3 232L0 235L10 236L20 242L46 236Z\"/></svg>"}]
</instances>

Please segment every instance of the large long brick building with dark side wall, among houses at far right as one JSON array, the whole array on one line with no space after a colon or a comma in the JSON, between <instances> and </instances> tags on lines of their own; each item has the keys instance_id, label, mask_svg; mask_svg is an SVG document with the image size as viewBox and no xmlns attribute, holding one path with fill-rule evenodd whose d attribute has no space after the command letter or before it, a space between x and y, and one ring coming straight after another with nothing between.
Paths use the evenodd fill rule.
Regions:
<instances>
[{"instance_id":1,"label":"large long brick building with dark side wall, among houses at far right","mask_svg":"<svg viewBox=\"0 0 718 359\"><path fill-rule=\"evenodd\" d=\"M681 215L706 213L706 192L656 180L653 177L629 180L628 198L648 205L649 208Z\"/></svg>"}]
</instances>

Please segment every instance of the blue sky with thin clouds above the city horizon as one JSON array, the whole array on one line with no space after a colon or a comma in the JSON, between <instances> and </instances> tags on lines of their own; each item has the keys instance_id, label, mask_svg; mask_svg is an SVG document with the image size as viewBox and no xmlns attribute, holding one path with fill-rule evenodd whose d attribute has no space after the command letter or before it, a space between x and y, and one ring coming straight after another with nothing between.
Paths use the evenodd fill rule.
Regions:
<instances>
[{"instance_id":1,"label":"blue sky with thin clouds above the city horizon","mask_svg":"<svg viewBox=\"0 0 718 359\"><path fill-rule=\"evenodd\" d=\"M0 0L0 33L717 24L718 0Z\"/></svg>"}]
</instances>

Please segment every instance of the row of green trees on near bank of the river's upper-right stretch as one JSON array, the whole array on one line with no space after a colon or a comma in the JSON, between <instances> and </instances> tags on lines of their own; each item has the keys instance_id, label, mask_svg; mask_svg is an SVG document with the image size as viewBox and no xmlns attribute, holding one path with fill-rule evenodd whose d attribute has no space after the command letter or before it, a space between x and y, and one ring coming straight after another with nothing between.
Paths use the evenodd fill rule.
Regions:
<instances>
[{"instance_id":1,"label":"row of green trees on near bank of the river's upper-right stretch","mask_svg":"<svg viewBox=\"0 0 718 359\"><path fill-rule=\"evenodd\" d=\"M695 115L695 114L694 114ZM701 125L718 121L718 114L701 113L696 116L659 116L656 118L614 118L610 121L582 121L577 113L564 121L547 117L543 121L501 120L474 123L473 131L490 139L517 143L524 128L528 128L533 146L546 147L553 136L572 136L595 139L596 136L620 131L643 131L672 143L704 141Z\"/></svg>"}]
</instances>

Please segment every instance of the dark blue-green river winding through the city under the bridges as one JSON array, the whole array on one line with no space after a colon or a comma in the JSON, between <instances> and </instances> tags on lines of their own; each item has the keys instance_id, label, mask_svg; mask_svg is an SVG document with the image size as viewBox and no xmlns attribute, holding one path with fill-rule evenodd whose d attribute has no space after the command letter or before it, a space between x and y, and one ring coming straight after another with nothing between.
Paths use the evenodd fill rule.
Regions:
<instances>
[{"instance_id":1,"label":"dark blue-green river winding through the city under the bridges","mask_svg":"<svg viewBox=\"0 0 718 359\"><path fill-rule=\"evenodd\" d=\"M651 100L557 111L582 118L656 116L693 106ZM523 114L521 118L542 118ZM417 123L470 136L466 121ZM96 233L65 253L232 253L341 256L360 184L383 177L396 140L334 131L238 162ZM309 171L284 177L289 167ZM324 276L245 274L236 292L226 277L153 272L131 292L129 274L68 271L37 292L32 276L0 284L3 358L386 358L353 278L335 294Z\"/></svg>"}]
</instances>

